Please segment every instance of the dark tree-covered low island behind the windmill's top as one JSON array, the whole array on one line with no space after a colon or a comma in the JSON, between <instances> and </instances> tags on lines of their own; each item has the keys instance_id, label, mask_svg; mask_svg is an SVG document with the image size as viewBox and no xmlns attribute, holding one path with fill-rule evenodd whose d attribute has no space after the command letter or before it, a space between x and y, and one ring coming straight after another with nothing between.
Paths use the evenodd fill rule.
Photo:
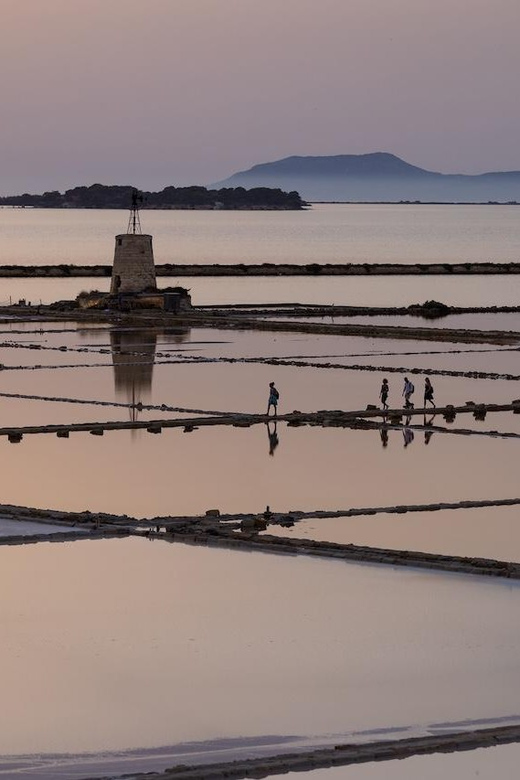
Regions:
<instances>
[{"instance_id":1,"label":"dark tree-covered low island behind the windmill's top","mask_svg":"<svg viewBox=\"0 0 520 780\"><path fill-rule=\"evenodd\" d=\"M126 209L132 202L134 188L124 185L93 184L74 187L64 193L54 190L43 195L9 195L0 198L0 206L21 208ZM297 192L272 187L202 186L165 187L160 192L142 194L142 208L149 209L302 209L306 205Z\"/></svg>"}]
</instances>

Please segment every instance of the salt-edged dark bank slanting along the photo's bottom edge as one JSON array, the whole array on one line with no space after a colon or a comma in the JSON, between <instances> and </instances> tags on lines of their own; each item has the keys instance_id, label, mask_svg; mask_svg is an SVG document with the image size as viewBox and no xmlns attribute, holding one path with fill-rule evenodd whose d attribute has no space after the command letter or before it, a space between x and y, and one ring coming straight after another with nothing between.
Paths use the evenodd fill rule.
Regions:
<instances>
[{"instance_id":1,"label":"salt-edged dark bank slanting along the photo's bottom edge","mask_svg":"<svg viewBox=\"0 0 520 780\"><path fill-rule=\"evenodd\" d=\"M8 763L9 769L16 772L22 770L23 776L30 780L48 780L50 772L55 773L53 777L88 776L99 780L207 780L210 777L221 780L223 777L266 777L267 774L271 777L289 771L391 761L432 753L455 753L520 741L520 726L513 717L494 718L484 723L485 726L480 720L468 720L453 724L353 731L323 737L224 737L98 753L9 755L0 757L0 771ZM446 725L453 730L443 734ZM374 739L376 736L377 739ZM143 765L151 769L143 771ZM132 770L130 774L129 770Z\"/></svg>"}]
</instances>

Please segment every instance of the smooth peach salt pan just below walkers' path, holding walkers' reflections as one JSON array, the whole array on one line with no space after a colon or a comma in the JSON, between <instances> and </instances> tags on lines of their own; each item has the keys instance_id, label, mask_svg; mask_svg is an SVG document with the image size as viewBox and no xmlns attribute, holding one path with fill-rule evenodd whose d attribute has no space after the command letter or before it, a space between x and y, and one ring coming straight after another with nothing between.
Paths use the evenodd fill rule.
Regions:
<instances>
[{"instance_id":1,"label":"smooth peach salt pan just below walkers' path, holding walkers' reflections","mask_svg":"<svg viewBox=\"0 0 520 780\"><path fill-rule=\"evenodd\" d=\"M518 497L518 440L421 439L405 447L402 431L390 431L384 448L378 431L279 424L270 457L263 425L165 428L133 440L129 431L2 438L3 501L150 517Z\"/></svg>"}]
</instances>

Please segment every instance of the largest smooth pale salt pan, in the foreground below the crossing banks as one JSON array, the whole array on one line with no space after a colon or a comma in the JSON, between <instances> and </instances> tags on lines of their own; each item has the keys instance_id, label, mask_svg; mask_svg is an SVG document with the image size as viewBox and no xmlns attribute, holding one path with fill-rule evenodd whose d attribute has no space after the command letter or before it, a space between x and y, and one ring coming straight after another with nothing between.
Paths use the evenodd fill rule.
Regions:
<instances>
[{"instance_id":1,"label":"largest smooth pale salt pan, in the foreground below the crossing banks","mask_svg":"<svg viewBox=\"0 0 520 780\"><path fill-rule=\"evenodd\" d=\"M139 539L0 558L4 755L517 711L511 583Z\"/></svg>"}]
</instances>

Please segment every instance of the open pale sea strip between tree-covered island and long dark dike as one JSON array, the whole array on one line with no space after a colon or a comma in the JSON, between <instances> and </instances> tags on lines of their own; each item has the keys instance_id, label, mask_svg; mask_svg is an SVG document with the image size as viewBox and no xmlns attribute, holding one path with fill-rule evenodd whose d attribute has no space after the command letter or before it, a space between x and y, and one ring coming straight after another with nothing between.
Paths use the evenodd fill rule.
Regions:
<instances>
[{"instance_id":1,"label":"open pale sea strip between tree-covered island and long dark dike","mask_svg":"<svg viewBox=\"0 0 520 780\"><path fill-rule=\"evenodd\" d=\"M0 264L111 263L127 212L0 209ZM518 261L515 206L316 205L308 211L145 211L157 263Z\"/></svg>"}]
</instances>

